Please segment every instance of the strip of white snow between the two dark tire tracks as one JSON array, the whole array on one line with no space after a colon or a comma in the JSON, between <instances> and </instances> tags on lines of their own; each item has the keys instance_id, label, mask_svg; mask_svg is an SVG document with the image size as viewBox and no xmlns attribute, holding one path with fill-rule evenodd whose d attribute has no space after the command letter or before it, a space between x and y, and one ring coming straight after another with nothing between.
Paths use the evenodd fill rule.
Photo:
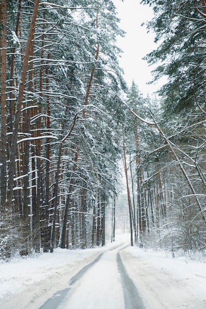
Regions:
<instances>
[{"instance_id":1,"label":"strip of white snow between the two dark tire tracks","mask_svg":"<svg viewBox=\"0 0 206 309\"><path fill-rule=\"evenodd\" d=\"M61 309L124 309L116 250L102 254L79 280L70 280L71 293Z\"/></svg>"}]
</instances>

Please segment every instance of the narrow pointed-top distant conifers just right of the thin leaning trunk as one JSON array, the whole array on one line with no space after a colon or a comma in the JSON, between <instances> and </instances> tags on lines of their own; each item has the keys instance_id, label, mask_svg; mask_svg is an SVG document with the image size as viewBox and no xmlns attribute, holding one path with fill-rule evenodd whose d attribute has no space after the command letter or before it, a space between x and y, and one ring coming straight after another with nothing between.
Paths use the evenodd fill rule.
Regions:
<instances>
[{"instance_id":1,"label":"narrow pointed-top distant conifers just right of the thin leaning trunk","mask_svg":"<svg viewBox=\"0 0 206 309\"><path fill-rule=\"evenodd\" d=\"M149 99L144 99L140 93L138 86L132 82L131 88L128 90L127 103L135 114L142 117L148 116ZM144 123L135 117L130 111L126 112L125 122L125 149L127 150L127 157L129 160L128 169L130 170L130 182L132 191L132 219L134 227L135 243L143 245L143 238L145 233L150 231L152 223L148 215L150 210L153 211L153 205L147 196L148 186L145 186L144 179L148 177L150 164L147 161L148 148L154 147L154 141L151 141L150 135L153 130L147 128ZM150 143L148 145L148 143ZM146 159L146 157L147 159ZM154 216L154 214L153 214Z\"/></svg>"}]
</instances>

